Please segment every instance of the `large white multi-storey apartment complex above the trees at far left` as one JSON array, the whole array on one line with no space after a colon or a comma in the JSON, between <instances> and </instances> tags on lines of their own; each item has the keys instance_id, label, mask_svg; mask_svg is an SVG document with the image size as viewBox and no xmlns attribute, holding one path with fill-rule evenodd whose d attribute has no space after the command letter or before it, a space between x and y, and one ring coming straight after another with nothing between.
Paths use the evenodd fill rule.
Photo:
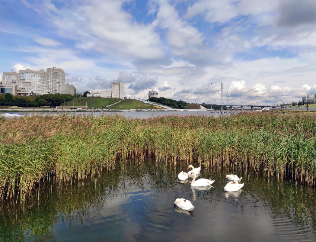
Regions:
<instances>
[{"instance_id":1,"label":"large white multi-storey apartment complex above the trees at far left","mask_svg":"<svg viewBox=\"0 0 316 242\"><path fill-rule=\"evenodd\" d=\"M3 85L16 85L18 95L43 95L65 93L65 72L61 68L47 68L46 71L30 69L19 72L3 72Z\"/></svg>"}]
</instances>

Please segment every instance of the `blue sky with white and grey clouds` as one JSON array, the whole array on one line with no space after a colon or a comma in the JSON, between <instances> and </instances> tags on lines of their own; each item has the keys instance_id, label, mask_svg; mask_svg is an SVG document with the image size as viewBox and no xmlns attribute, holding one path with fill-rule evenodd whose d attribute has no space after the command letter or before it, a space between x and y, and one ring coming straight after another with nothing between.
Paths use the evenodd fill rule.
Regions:
<instances>
[{"instance_id":1,"label":"blue sky with white and grey clouds","mask_svg":"<svg viewBox=\"0 0 316 242\"><path fill-rule=\"evenodd\" d=\"M50 67L78 92L298 102L316 93L316 1L0 0L0 72Z\"/></svg>"}]
</instances>

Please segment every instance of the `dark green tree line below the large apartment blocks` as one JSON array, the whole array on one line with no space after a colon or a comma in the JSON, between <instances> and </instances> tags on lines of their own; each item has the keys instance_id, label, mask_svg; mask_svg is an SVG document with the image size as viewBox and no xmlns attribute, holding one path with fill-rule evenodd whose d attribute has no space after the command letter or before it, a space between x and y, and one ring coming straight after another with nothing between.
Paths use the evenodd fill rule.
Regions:
<instances>
[{"instance_id":1,"label":"dark green tree line below the large apartment blocks","mask_svg":"<svg viewBox=\"0 0 316 242\"><path fill-rule=\"evenodd\" d=\"M45 94L36 96L12 96L10 93L0 95L1 106L18 107L41 107L41 106L59 106L63 102L72 100L70 94Z\"/></svg>"}]
</instances>

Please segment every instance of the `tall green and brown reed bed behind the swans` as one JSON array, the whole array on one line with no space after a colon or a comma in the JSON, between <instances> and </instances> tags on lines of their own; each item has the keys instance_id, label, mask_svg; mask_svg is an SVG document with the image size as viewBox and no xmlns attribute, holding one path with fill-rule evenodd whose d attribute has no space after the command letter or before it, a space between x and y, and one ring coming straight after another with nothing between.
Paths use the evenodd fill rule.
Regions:
<instances>
[{"instance_id":1,"label":"tall green and brown reed bed behind the swans","mask_svg":"<svg viewBox=\"0 0 316 242\"><path fill-rule=\"evenodd\" d=\"M117 158L160 162L197 160L315 185L316 115L242 114L167 116L25 117L0 120L0 198L22 199L46 181L84 182L111 170Z\"/></svg>"}]
</instances>

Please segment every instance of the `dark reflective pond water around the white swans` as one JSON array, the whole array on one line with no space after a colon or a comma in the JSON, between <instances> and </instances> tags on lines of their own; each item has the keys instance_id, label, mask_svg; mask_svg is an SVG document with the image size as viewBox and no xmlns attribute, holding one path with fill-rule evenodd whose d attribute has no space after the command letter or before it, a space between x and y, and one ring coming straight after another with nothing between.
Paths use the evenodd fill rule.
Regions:
<instances>
[{"instance_id":1,"label":"dark reflective pond water around the white swans","mask_svg":"<svg viewBox=\"0 0 316 242\"><path fill-rule=\"evenodd\" d=\"M84 184L42 188L40 201L24 208L4 202L0 240L315 241L313 188L202 165L199 178L215 182L198 190L191 178L177 179L187 165L133 161ZM223 190L230 173L243 177L241 191ZM194 211L174 207L176 198L190 200Z\"/></svg>"}]
</instances>

